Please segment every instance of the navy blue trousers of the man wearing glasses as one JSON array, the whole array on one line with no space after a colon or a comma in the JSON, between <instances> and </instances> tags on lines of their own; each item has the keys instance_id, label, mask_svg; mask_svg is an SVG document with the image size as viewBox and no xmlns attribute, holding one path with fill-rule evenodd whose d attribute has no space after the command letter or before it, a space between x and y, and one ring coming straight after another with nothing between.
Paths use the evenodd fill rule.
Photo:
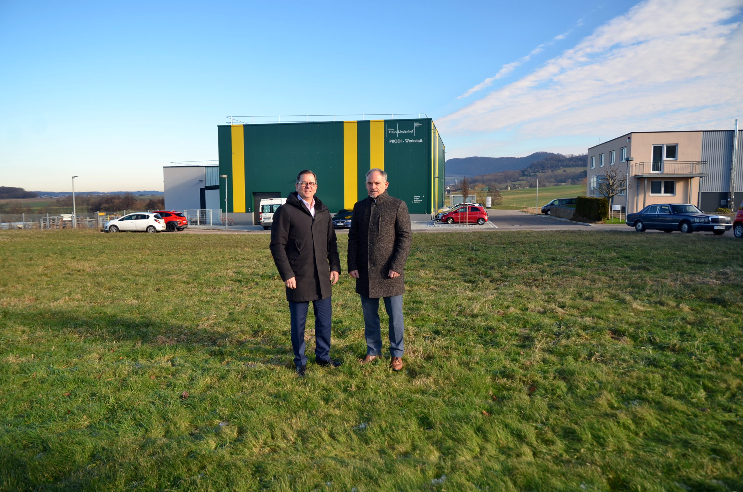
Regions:
<instances>
[{"instance_id":1,"label":"navy blue trousers of the man wearing glasses","mask_svg":"<svg viewBox=\"0 0 743 492\"><path fill-rule=\"evenodd\" d=\"M294 364L306 366L305 355L305 324L310 302L289 302L291 315L291 349L294 352ZM331 297L319 301L312 301L315 313L315 360L330 359L330 328L332 323L331 311L333 303Z\"/></svg>"}]
</instances>

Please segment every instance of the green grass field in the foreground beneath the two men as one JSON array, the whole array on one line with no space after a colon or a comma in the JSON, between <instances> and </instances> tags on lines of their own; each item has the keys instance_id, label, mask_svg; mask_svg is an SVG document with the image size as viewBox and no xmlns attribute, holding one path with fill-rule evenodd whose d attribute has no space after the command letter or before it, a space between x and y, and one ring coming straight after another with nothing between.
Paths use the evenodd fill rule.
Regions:
<instances>
[{"instance_id":1,"label":"green grass field in the foreground beneath the two men","mask_svg":"<svg viewBox=\"0 0 743 492\"><path fill-rule=\"evenodd\" d=\"M267 243L0 232L0 491L743 491L739 240L415 234L305 379Z\"/></svg>"}]
</instances>

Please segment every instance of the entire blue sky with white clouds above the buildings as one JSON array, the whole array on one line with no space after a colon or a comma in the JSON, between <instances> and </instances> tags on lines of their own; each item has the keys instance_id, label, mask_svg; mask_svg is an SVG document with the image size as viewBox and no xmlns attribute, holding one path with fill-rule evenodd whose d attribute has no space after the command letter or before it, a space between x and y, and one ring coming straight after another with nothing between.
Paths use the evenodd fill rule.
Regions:
<instances>
[{"instance_id":1,"label":"entire blue sky with white clouds above the buildings","mask_svg":"<svg viewBox=\"0 0 743 492\"><path fill-rule=\"evenodd\" d=\"M448 157L728 128L742 2L3 1L0 184L161 190L227 115L423 111Z\"/></svg>"}]
</instances>

